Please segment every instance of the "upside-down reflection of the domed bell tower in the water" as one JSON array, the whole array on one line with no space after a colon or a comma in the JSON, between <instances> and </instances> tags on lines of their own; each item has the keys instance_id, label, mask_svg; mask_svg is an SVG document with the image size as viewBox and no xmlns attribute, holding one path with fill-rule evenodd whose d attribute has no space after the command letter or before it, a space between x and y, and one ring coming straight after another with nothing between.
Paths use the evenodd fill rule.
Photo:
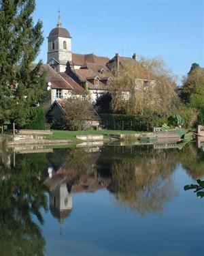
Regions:
<instances>
[{"instance_id":1,"label":"upside-down reflection of the domed bell tower in the water","mask_svg":"<svg viewBox=\"0 0 204 256\"><path fill-rule=\"evenodd\" d=\"M67 184L61 184L50 193L50 212L62 224L71 210L72 195L67 191Z\"/></svg>"}]
</instances>

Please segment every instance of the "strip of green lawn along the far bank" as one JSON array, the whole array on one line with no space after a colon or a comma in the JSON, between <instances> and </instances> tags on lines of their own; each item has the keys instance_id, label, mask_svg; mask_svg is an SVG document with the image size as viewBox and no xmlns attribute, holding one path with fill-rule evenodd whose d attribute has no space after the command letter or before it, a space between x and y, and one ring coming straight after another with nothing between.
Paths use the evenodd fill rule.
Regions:
<instances>
[{"instance_id":1,"label":"strip of green lawn along the far bank","mask_svg":"<svg viewBox=\"0 0 204 256\"><path fill-rule=\"evenodd\" d=\"M70 139L74 143L80 142L79 139L76 138L76 135L95 135L95 134L103 134L105 137L108 137L108 134L133 134L137 133L133 130L53 130L53 134L47 136L47 139Z\"/></svg>"}]
</instances>

